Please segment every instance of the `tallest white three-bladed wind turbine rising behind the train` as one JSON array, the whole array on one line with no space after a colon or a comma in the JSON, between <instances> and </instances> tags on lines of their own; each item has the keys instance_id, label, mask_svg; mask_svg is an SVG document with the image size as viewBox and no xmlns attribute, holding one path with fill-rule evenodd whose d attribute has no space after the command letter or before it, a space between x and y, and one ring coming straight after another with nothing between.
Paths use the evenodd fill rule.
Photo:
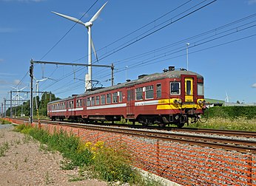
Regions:
<instances>
[{"instance_id":1,"label":"tallest white three-bladed wind turbine rising behind the train","mask_svg":"<svg viewBox=\"0 0 256 186\"><path fill-rule=\"evenodd\" d=\"M103 6L98 10L97 13L95 13L95 15L92 16L92 18L90 19L90 21L84 23L82 21L80 21L78 18L73 18L69 15L64 15L61 13L55 13L52 11L52 13L55 13L57 15L60 15L61 17L67 18L70 21L74 21L75 23L78 24L82 24L84 25L84 27L87 27L87 31L88 31L88 75L86 75L86 83L85 83L85 89L92 89L92 49L93 52L95 54L95 57L97 58L98 61L98 57L96 55L96 51L95 51L95 47L94 44L92 42L92 24L93 21L95 21L98 18L98 15L100 15L101 10L106 6L107 2L105 4L103 4Z\"/></svg>"}]
</instances>

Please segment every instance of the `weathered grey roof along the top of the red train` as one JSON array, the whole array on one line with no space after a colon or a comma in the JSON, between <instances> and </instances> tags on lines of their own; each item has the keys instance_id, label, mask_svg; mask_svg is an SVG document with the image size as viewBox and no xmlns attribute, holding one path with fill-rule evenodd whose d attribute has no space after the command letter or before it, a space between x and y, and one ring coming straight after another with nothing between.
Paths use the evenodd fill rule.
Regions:
<instances>
[{"instance_id":1,"label":"weathered grey roof along the top of the red train","mask_svg":"<svg viewBox=\"0 0 256 186\"><path fill-rule=\"evenodd\" d=\"M115 86L109 86L109 87L97 89L94 91L84 92L84 94L78 94L73 97L84 97L84 96L87 96L90 94L98 94L101 92L108 92L108 91L115 90L115 89L121 89L124 87L135 86L135 85L138 85L141 83L147 83L147 82L150 82L153 80L161 80L161 79L165 79L165 78L180 78L181 75L196 75L198 77L198 79L203 79L202 75L199 75L198 73L195 73L195 72L186 71L186 70L169 70L167 72L155 73L152 75L141 75L141 76L139 76L139 78L137 80L130 80L125 83L118 83ZM55 100L50 103L58 103L58 102L64 101L64 100L70 100L73 97L67 97L67 98L64 98L61 100Z\"/></svg>"}]
</instances>

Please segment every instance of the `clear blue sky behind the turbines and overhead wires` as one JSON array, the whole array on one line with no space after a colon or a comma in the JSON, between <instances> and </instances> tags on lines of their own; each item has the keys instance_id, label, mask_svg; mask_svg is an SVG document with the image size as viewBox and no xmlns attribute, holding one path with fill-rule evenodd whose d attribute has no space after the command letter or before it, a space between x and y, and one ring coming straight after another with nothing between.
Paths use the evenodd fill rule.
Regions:
<instances>
[{"instance_id":1,"label":"clear blue sky behind the turbines and overhead wires","mask_svg":"<svg viewBox=\"0 0 256 186\"><path fill-rule=\"evenodd\" d=\"M227 92L230 102L256 103L256 0L203 7L211 1L109 0L92 26L99 58L92 55L92 63L114 63L115 83L122 83L168 66L186 68L189 43L189 70L203 75L205 97L224 100ZM87 29L51 11L76 18L86 13L81 21L87 22L105 2L0 0L0 103L10 99L10 86L29 86L31 58L87 63ZM53 79L41 82L40 91L61 98L84 92L85 73L79 66L35 65L36 79ZM111 85L110 69L93 68L92 75L98 85Z\"/></svg>"}]
</instances>

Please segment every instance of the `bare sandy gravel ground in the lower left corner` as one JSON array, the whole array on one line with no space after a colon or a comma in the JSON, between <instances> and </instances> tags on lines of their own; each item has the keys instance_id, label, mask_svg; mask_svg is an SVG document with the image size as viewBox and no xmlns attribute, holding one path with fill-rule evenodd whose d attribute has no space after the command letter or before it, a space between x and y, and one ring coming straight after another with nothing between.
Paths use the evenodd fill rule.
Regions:
<instances>
[{"instance_id":1,"label":"bare sandy gravel ground in the lower left corner","mask_svg":"<svg viewBox=\"0 0 256 186\"><path fill-rule=\"evenodd\" d=\"M61 154L43 151L40 143L13 131L12 125L0 125L0 147L8 147L0 156L0 185L107 185L95 179L78 179L78 170L60 168Z\"/></svg>"}]
</instances>

